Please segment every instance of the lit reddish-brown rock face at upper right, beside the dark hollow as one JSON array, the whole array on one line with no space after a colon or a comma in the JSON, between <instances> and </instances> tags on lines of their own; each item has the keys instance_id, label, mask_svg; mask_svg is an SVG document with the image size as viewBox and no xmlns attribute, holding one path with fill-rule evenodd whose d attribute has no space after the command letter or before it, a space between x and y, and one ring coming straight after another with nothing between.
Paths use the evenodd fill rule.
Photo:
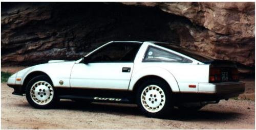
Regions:
<instances>
[{"instance_id":1,"label":"lit reddish-brown rock face at upper right, beside the dark hollow","mask_svg":"<svg viewBox=\"0 0 256 130\"><path fill-rule=\"evenodd\" d=\"M182 46L216 59L254 66L254 3L123 3L157 7L188 18L196 26L170 25ZM197 27L200 25L204 28Z\"/></svg>"}]
</instances>

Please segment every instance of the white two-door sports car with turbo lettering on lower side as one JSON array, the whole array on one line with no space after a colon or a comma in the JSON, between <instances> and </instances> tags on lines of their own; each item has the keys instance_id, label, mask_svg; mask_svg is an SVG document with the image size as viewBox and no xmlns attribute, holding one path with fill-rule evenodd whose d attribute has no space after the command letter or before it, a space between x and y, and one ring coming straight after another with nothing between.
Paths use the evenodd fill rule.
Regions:
<instances>
[{"instance_id":1,"label":"white two-door sports car with turbo lettering on lower side","mask_svg":"<svg viewBox=\"0 0 256 130\"><path fill-rule=\"evenodd\" d=\"M50 108L60 98L87 99L137 103L148 116L174 107L198 110L245 89L233 62L155 41L111 41L77 61L49 61L18 71L7 85L35 108Z\"/></svg>"}]
</instances>

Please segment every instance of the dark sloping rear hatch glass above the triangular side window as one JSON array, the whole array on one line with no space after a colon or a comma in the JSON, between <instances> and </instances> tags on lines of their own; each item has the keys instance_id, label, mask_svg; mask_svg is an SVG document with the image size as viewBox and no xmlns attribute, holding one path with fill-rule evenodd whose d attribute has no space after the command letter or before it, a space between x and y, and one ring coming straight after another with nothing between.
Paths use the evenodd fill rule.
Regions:
<instances>
[{"instance_id":1,"label":"dark sloping rear hatch glass above the triangular side window","mask_svg":"<svg viewBox=\"0 0 256 130\"><path fill-rule=\"evenodd\" d=\"M199 55L198 53L195 53L191 50L188 50L184 47L177 46L177 45L174 45L174 44L165 44L165 43L155 43L155 44L159 45L159 46L162 46L162 47L165 47L165 48L168 48L168 49L172 49L174 51L177 51L178 53L181 53L183 55L186 55L188 57L191 57L191 58L196 59L196 60L201 61L201 62L214 60L214 59L212 59L208 56L205 56L205 55L202 55L202 54Z\"/></svg>"}]
</instances>

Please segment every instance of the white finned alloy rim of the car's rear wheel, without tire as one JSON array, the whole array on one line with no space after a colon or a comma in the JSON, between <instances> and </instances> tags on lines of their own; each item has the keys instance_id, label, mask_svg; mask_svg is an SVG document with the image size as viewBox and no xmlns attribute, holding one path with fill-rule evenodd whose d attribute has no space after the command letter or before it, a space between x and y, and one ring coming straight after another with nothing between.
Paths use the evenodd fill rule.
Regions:
<instances>
[{"instance_id":1,"label":"white finned alloy rim of the car's rear wheel, without tire","mask_svg":"<svg viewBox=\"0 0 256 130\"><path fill-rule=\"evenodd\" d=\"M148 85L140 96L143 108L151 113L159 112L165 103L164 91L157 85Z\"/></svg>"}]
</instances>

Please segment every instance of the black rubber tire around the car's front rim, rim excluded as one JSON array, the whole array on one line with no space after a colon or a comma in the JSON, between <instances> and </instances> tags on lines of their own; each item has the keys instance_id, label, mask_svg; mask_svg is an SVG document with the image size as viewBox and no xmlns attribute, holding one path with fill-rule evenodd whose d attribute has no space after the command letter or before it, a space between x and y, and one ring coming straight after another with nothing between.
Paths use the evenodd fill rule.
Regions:
<instances>
[{"instance_id":1,"label":"black rubber tire around the car's front rim, rim excluded","mask_svg":"<svg viewBox=\"0 0 256 130\"><path fill-rule=\"evenodd\" d=\"M38 105L37 103L35 103L30 95L30 90L31 88L33 87L33 85L38 82L38 81L45 81L47 83L49 83L51 86L52 86L52 91L53 92L53 97L51 99L51 101L49 101L47 104L45 105ZM50 91L50 90L49 90ZM54 91L54 87L53 87L53 84L51 82L51 80L49 79L48 76L46 75L38 75L38 76L35 76L32 80L29 81L29 83L27 84L26 86L26 98L29 102L29 104L31 106L33 106L34 108L38 108L38 109L49 109L49 108L52 108L55 103L57 101L59 101L59 98L57 97L57 94L56 92Z\"/></svg>"}]
</instances>

